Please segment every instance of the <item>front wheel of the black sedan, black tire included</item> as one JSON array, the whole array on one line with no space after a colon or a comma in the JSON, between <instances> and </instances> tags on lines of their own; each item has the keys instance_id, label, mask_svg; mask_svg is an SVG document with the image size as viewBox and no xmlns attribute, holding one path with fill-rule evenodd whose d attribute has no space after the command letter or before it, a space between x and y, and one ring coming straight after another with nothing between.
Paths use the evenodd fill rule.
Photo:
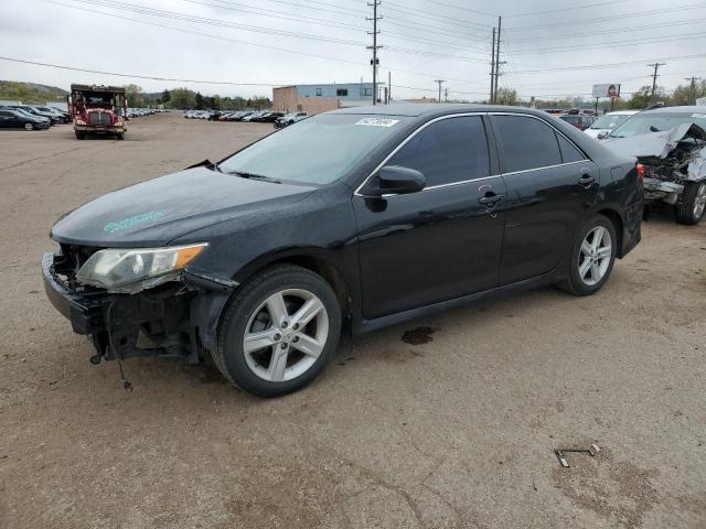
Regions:
<instances>
[{"instance_id":1,"label":"front wheel of the black sedan, black tire included","mask_svg":"<svg viewBox=\"0 0 706 529\"><path fill-rule=\"evenodd\" d=\"M296 323L298 317L302 325ZM277 325L276 320L284 323ZM276 266L245 283L228 302L213 360L245 391L280 397L303 388L323 370L340 335L341 307L329 283L304 268ZM302 352L309 347L309 353Z\"/></svg>"}]
</instances>

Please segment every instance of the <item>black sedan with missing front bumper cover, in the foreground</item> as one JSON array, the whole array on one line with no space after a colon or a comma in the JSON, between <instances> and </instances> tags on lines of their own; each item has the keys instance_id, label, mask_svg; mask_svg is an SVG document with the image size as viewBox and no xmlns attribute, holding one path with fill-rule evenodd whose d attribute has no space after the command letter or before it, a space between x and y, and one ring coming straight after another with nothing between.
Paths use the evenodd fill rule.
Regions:
<instances>
[{"instance_id":1,"label":"black sedan with missing front bumper cover, in the foreground","mask_svg":"<svg viewBox=\"0 0 706 529\"><path fill-rule=\"evenodd\" d=\"M597 292L640 240L642 174L531 109L336 110L66 214L44 281L92 361L211 359L274 397L341 333L546 284Z\"/></svg>"}]
</instances>

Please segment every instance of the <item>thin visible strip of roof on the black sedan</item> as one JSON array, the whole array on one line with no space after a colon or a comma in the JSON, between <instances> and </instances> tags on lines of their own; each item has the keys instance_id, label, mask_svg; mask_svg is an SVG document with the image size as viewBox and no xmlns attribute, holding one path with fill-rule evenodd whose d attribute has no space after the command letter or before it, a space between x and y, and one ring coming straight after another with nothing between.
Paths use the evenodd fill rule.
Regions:
<instances>
[{"instance_id":1,"label":"thin visible strip of roof on the black sedan","mask_svg":"<svg viewBox=\"0 0 706 529\"><path fill-rule=\"evenodd\" d=\"M528 107L510 107L500 105L480 104L439 104L439 102L396 102L393 105L368 105L365 107L341 108L327 114L352 114L376 116L408 116L408 117L436 117L460 112L510 112L532 114L546 117L547 114Z\"/></svg>"}]
</instances>

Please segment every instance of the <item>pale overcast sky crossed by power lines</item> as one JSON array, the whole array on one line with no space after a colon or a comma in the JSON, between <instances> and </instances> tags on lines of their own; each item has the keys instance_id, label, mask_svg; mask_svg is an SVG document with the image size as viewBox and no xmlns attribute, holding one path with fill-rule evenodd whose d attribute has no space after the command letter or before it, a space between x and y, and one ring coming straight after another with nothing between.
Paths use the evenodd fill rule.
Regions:
<instances>
[{"instance_id":1,"label":"pale overcast sky crossed by power lines","mask_svg":"<svg viewBox=\"0 0 706 529\"><path fill-rule=\"evenodd\" d=\"M507 62L501 86L523 97L589 97L595 83L621 83L629 95L651 83L646 64L655 60L666 63L659 84L667 89L687 76L706 78L703 0L383 0L378 14L379 73L386 82L392 71L396 98L435 97L435 79L445 79L450 99L482 100L498 14ZM188 86L245 97L271 96L267 85L371 80L366 15L372 8L364 0L0 0L6 57L263 86L130 79L8 61L0 61L0 79L62 88L136 83L147 91Z\"/></svg>"}]
</instances>

